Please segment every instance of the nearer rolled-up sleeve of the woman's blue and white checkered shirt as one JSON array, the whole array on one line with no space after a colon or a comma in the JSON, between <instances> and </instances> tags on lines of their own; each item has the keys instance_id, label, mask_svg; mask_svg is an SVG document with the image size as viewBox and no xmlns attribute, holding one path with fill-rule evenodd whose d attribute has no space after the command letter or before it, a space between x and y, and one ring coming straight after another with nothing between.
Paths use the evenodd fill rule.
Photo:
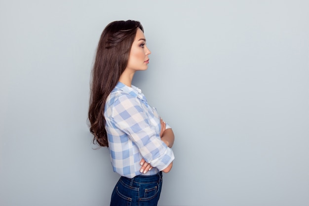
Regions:
<instances>
[{"instance_id":1,"label":"nearer rolled-up sleeve of the woman's blue and white checkered shirt","mask_svg":"<svg viewBox=\"0 0 309 206\"><path fill-rule=\"evenodd\" d=\"M136 144L146 162L162 171L175 157L148 115L137 98L121 95L113 105L111 121Z\"/></svg>"}]
</instances>

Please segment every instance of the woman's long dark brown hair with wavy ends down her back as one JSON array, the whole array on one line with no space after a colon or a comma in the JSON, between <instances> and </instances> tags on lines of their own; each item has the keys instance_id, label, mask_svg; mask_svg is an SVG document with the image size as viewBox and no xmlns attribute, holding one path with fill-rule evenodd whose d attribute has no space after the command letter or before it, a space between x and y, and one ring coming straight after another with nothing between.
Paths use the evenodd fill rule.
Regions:
<instances>
[{"instance_id":1,"label":"woman's long dark brown hair with wavy ends down her back","mask_svg":"<svg viewBox=\"0 0 309 206\"><path fill-rule=\"evenodd\" d=\"M138 21L115 21L107 25L101 34L91 71L88 111L94 144L109 146L105 130L105 102L127 66L138 28L144 32Z\"/></svg>"}]
</instances>

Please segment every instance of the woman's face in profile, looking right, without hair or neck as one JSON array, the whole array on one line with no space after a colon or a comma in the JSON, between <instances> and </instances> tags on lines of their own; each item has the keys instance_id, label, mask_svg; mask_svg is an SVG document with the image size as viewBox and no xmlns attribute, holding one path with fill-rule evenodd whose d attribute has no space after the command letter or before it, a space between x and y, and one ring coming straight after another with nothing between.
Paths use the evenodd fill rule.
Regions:
<instances>
[{"instance_id":1,"label":"woman's face in profile, looking right, without hair or neck","mask_svg":"<svg viewBox=\"0 0 309 206\"><path fill-rule=\"evenodd\" d=\"M151 51L146 46L146 38L141 29L138 29L133 41L126 69L133 71L146 70L149 64L148 55Z\"/></svg>"}]
</instances>

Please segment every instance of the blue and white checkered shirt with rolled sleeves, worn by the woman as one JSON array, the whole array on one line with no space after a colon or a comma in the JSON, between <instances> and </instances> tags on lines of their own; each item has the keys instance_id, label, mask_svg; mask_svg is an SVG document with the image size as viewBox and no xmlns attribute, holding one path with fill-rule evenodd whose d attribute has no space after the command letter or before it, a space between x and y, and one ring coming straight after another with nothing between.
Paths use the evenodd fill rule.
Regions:
<instances>
[{"instance_id":1,"label":"blue and white checkered shirt with rolled sleeves, worn by the woman","mask_svg":"<svg viewBox=\"0 0 309 206\"><path fill-rule=\"evenodd\" d=\"M114 172L129 178L143 174L144 158L153 169L143 175L152 175L174 160L172 149L160 138L160 116L139 88L118 82L105 103L104 116Z\"/></svg>"}]
</instances>

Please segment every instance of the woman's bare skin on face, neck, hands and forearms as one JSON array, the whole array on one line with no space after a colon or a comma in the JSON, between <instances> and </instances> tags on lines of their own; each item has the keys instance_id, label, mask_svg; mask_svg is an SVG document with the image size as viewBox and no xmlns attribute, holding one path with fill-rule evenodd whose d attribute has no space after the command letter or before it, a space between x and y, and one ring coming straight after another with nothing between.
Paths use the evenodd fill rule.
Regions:
<instances>
[{"instance_id":1,"label":"woman's bare skin on face, neck, hands and forearms","mask_svg":"<svg viewBox=\"0 0 309 206\"><path fill-rule=\"evenodd\" d=\"M132 79L136 71L146 70L148 69L149 64L149 55L151 51L148 49L146 45L146 38L142 30L138 29L135 35L135 39L133 41L131 51L129 54L127 67L124 69L122 74L120 75L119 81L129 87L131 87ZM160 119L161 123L161 131L160 137L161 140L168 146L172 147L174 144L174 133L172 129L166 129L165 122ZM141 169L140 172L147 173L153 167L145 162L144 159L140 162ZM162 172L169 172L172 169L173 162L167 166Z\"/></svg>"}]
</instances>

